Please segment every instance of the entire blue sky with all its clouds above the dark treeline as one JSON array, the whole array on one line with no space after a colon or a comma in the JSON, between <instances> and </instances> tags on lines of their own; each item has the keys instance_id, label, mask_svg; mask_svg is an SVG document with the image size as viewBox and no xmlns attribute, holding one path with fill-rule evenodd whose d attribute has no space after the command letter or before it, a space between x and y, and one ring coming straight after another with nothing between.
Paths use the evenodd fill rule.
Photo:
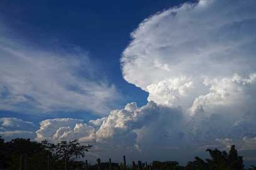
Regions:
<instances>
[{"instance_id":1,"label":"entire blue sky with all its clouds above the dark treeline","mask_svg":"<svg viewBox=\"0 0 256 170\"><path fill-rule=\"evenodd\" d=\"M92 160L184 164L235 144L256 161L255 7L1 1L0 135L78 139Z\"/></svg>"}]
</instances>

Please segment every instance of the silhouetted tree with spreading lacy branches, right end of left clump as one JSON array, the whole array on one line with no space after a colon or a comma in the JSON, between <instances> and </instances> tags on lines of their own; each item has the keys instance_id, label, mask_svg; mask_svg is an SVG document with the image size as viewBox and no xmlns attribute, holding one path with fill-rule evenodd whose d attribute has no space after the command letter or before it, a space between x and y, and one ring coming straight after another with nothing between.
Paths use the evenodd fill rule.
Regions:
<instances>
[{"instance_id":1,"label":"silhouetted tree with spreading lacy branches, right end of left clump","mask_svg":"<svg viewBox=\"0 0 256 170\"><path fill-rule=\"evenodd\" d=\"M65 169L68 169L68 161L70 158L75 156L75 158L83 158L85 152L91 149L92 145L81 146L77 139L73 141L61 141L55 146L55 154L60 159L65 159Z\"/></svg>"}]
</instances>

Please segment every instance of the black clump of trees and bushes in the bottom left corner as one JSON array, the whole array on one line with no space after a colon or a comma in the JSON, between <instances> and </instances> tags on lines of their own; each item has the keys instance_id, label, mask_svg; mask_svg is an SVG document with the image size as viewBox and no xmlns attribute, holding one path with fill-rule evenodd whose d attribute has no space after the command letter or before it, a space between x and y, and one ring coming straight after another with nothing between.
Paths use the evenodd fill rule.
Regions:
<instances>
[{"instance_id":1,"label":"black clump of trees and bushes in the bottom left corner","mask_svg":"<svg viewBox=\"0 0 256 170\"><path fill-rule=\"evenodd\" d=\"M17 170L58 170L65 167L68 160L70 168L82 168L82 164L70 160L85 156L92 146L80 146L77 140L51 144L47 141L37 143L30 139L16 138L7 143L0 138L0 169ZM67 158L67 160L63 160Z\"/></svg>"}]
</instances>

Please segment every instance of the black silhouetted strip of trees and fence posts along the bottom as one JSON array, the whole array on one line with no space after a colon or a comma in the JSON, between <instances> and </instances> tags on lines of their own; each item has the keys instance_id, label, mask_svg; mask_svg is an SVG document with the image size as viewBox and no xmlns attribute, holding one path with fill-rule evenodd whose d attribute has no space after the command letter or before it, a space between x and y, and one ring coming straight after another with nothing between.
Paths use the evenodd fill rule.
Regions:
<instances>
[{"instance_id":1,"label":"black silhouetted strip of trees and fence posts along the bottom","mask_svg":"<svg viewBox=\"0 0 256 170\"><path fill-rule=\"evenodd\" d=\"M59 170L59 169L86 169L86 170L244 170L243 157L239 156L235 146L230 151L219 151L218 149L207 149L209 159L189 161L185 166L179 165L177 161L152 161L147 164L133 161L131 165L124 163L102 163L98 158L96 164L88 164L88 161L77 161L84 158L85 153L92 145L80 145L77 140L61 141L51 144L48 141L38 143L30 139L16 138L4 142L0 137L0 169L6 170ZM247 170L256 170L255 166Z\"/></svg>"}]
</instances>

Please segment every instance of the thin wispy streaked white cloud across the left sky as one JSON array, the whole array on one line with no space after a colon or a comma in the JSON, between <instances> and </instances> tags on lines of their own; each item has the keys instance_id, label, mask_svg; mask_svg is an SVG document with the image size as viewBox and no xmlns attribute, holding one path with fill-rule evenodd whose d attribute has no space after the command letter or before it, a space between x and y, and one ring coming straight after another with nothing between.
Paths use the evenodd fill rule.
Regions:
<instances>
[{"instance_id":1,"label":"thin wispy streaked white cloud across the left sky","mask_svg":"<svg viewBox=\"0 0 256 170\"><path fill-rule=\"evenodd\" d=\"M0 30L0 109L106 114L120 99L82 49L40 49L4 33Z\"/></svg>"}]
</instances>

